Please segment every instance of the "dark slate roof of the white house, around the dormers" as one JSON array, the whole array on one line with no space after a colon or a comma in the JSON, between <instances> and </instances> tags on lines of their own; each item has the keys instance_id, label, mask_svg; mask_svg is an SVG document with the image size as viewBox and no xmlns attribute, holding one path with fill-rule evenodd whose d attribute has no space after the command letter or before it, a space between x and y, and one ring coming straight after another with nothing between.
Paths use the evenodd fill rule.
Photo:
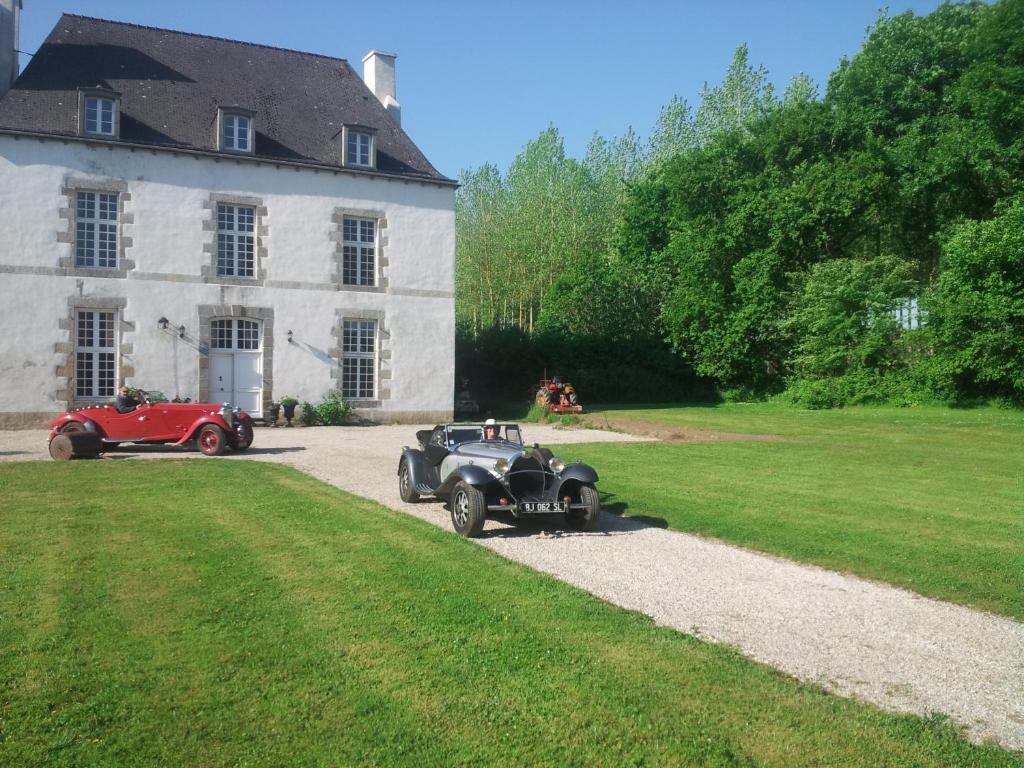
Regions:
<instances>
[{"instance_id":1,"label":"dark slate roof of the white house, around the dormers","mask_svg":"<svg viewBox=\"0 0 1024 768\"><path fill-rule=\"evenodd\" d=\"M65 14L0 99L0 129L78 135L80 88L121 94L123 141L216 151L217 110L255 113L254 155L340 165L341 127L376 129L377 170L446 181L343 58Z\"/></svg>"}]
</instances>

